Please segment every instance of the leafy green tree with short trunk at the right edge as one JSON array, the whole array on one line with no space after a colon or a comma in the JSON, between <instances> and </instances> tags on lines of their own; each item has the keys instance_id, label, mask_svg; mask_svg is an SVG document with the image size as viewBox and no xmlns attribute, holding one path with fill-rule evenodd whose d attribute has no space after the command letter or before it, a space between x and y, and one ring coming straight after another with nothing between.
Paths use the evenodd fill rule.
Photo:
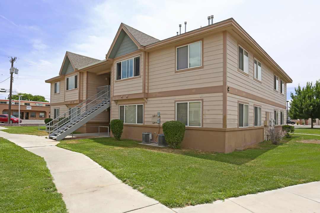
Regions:
<instances>
[{"instance_id":1,"label":"leafy green tree with short trunk at the right edge","mask_svg":"<svg viewBox=\"0 0 320 213\"><path fill-rule=\"evenodd\" d=\"M294 88L295 95L290 94L292 101L290 103L289 115L292 119L311 118L311 128L313 128L313 119L320 118L320 80L315 85L307 82L307 86L301 89Z\"/></svg>"}]
</instances>

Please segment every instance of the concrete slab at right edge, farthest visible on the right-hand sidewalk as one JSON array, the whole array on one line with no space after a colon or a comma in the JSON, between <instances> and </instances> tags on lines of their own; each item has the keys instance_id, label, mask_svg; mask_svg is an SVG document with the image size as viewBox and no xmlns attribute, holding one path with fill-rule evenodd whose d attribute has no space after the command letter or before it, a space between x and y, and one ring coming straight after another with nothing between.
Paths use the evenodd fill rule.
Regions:
<instances>
[{"instance_id":1,"label":"concrete slab at right edge, farthest visible on the right-hand sidewalk","mask_svg":"<svg viewBox=\"0 0 320 213\"><path fill-rule=\"evenodd\" d=\"M320 203L320 182L311 182L295 186L288 186L283 188L283 190L298 194L302 197Z\"/></svg>"}]
</instances>

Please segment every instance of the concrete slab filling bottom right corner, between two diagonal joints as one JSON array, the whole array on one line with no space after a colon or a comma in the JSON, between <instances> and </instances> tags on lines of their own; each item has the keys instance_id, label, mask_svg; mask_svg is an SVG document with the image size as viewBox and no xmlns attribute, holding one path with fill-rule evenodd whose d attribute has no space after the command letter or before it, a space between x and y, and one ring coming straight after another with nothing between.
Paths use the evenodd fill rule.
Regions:
<instances>
[{"instance_id":1,"label":"concrete slab filling bottom right corner, between two diagonal joints","mask_svg":"<svg viewBox=\"0 0 320 213\"><path fill-rule=\"evenodd\" d=\"M320 203L301 197L282 189L249 194L228 200L249 209L252 212L320 212Z\"/></svg>"}]
</instances>

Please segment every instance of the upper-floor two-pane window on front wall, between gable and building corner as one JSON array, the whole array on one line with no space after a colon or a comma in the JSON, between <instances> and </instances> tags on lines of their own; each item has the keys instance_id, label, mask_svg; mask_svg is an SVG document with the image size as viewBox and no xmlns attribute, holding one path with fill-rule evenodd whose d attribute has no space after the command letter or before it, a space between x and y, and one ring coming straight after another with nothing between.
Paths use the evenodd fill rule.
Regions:
<instances>
[{"instance_id":1,"label":"upper-floor two-pane window on front wall, between gable and building corner","mask_svg":"<svg viewBox=\"0 0 320 213\"><path fill-rule=\"evenodd\" d=\"M177 47L177 70L184 70L192 67L201 66L201 49L201 41Z\"/></svg>"}]
</instances>

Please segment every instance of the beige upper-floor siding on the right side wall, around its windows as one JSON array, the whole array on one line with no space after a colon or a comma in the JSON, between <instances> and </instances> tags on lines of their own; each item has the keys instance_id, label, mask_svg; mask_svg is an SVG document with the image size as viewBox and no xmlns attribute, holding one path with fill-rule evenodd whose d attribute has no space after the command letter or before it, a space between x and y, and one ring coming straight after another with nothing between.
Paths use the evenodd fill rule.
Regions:
<instances>
[{"instance_id":1,"label":"beige upper-floor siding on the right side wall, around its windows","mask_svg":"<svg viewBox=\"0 0 320 213\"><path fill-rule=\"evenodd\" d=\"M238 42L236 39L228 34L227 36L227 85L240 89L249 94L258 95L266 98L270 101L285 105L286 95L274 91L274 71L268 68L268 63L258 55L250 47L241 45L245 50L249 52L249 76L244 72L238 70ZM254 79L253 75L253 61L254 57L261 62L261 82ZM280 80L279 80L280 82ZM280 88L280 83L279 83ZM286 92L286 85L284 85L284 91ZM286 93L284 93L286 94Z\"/></svg>"}]
</instances>

